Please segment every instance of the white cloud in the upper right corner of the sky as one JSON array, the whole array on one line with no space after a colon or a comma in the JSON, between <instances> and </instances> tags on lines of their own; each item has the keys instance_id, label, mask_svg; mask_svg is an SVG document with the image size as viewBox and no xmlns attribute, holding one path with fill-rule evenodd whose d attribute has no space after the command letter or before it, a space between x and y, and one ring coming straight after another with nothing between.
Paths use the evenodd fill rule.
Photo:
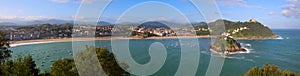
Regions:
<instances>
[{"instance_id":1,"label":"white cloud in the upper right corner of the sky","mask_svg":"<svg viewBox=\"0 0 300 76\"><path fill-rule=\"evenodd\" d=\"M286 17L300 17L300 0L287 0L289 4L284 5L281 13Z\"/></svg>"}]
</instances>

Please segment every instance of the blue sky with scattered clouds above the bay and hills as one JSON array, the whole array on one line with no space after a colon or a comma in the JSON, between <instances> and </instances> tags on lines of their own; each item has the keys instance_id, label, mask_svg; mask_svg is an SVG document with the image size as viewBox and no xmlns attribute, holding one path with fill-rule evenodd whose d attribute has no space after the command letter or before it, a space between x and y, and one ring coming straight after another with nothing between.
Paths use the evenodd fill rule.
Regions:
<instances>
[{"instance_id":1,"label":"blue sky with scattered clouds above the bay and hills","mask_svg":"<svg viewBox=\"0 0 300 76\"><path fill-rule=\"evenodd\" d=\"M99 5L109 1L99 17ZM300 0L215 0L215 3L223 19L244 22L253 18L272 29L300 29ZM86 16L77 16L80 8L89 5L84 10ZM207 21L207 16L201 13L205 10L198 10L189 0L1 0L0 10L0 22L75 17L87 22L99 18L110 23Z\"/></svg>"}]
</instances>

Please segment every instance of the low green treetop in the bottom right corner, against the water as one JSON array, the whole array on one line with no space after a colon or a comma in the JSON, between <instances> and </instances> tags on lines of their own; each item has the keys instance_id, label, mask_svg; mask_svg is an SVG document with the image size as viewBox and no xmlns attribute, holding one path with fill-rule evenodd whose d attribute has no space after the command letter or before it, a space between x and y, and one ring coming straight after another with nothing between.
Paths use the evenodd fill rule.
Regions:
<instances>
[{"instance_id":1,"label":"low green treetop in the bottom right corner, against the water","mask_svg":"<svg viewBox=\"0 0 300 76\"><path fill-rule=\"evenodd\" d=\"M262 68L251 68L245 73L245 76L300 76L300 74L289 70L280 70L276 65L265 64Z\"/></svg>"}]
</instances>

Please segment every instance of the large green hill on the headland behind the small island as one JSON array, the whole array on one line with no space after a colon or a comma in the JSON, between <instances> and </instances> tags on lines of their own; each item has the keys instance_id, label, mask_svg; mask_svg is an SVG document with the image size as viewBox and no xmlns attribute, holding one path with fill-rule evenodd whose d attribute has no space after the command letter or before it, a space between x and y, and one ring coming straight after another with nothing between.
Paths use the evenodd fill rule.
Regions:
<instances>
[{"instance_id":1,"label":"large green hill on the headland behind the small island","mask_svg":"<svg viewBox=\"0 0 300 76\"><path fill-rule=\"evenodd\" d=\"M232 33L234 30L240 28L247 28L237 33L231 34L234 38L273 38L276 35L273 33L271 29L264 26L263 24L255 21L248 21L248 22L233 22L229 20L217 20L215 22L211 22L208 24L198 24L195 25L195 29L205 28L208 29L208 25L216 25L218 22L224 22L225 29L227 33ZM209 35L207 33L209 31L197 30L197 35Z\"/></svg>"}]
</instances>

